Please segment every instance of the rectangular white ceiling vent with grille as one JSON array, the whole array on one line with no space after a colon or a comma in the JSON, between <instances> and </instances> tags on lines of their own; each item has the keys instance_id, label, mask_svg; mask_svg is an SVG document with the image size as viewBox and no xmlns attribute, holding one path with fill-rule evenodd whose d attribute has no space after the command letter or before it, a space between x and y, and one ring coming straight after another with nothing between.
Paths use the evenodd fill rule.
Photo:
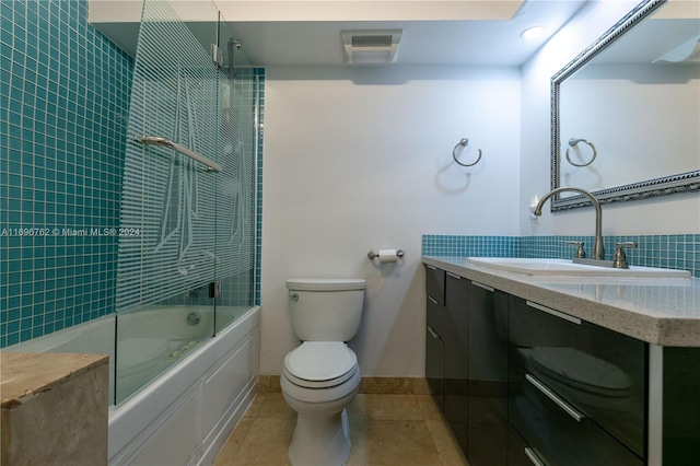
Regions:
<instances>
[{"instance_id":1,"label":"rectangular white ceiling vent with grille","mask_svg":"<svg viewBox=\"0 0 700 466\"><path fill-rule=\"evenodd\" d=\"M341 31L345 62L387 65L396 62L402 30Z\"/></svg>"}]
</instances>

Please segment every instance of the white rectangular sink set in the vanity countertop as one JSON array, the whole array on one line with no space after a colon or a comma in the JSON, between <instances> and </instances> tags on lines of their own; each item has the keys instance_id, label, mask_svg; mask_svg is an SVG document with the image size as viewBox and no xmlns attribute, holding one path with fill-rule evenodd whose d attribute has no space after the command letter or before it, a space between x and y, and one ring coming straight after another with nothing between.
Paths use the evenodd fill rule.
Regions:
<instances>
[{"instance_id":1,"label":"white rectangular sink set in the vanity countertop","mask_svg":"<svg viewBox=\"0 0 700 466\"><path fill-rule=\"evenodd\" d=\"M629 269L616 269L574 264L571 259L468 257L467 261L475 266L530 276L690 278L690 272L687 270L639 266L630 266Z\"/></svg>"}]
</instances>

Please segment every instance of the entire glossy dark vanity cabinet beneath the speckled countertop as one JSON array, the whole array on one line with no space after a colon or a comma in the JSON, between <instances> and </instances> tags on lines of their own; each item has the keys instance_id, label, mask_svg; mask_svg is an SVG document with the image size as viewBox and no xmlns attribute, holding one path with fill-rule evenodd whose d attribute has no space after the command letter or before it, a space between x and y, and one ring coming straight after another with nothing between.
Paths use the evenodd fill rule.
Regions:
<instances>
[{"instance_id":1,"label":"entire glossy dark vanity cabinet beneath the speckled countertop","mask_svg":"<svg viewBox=\"0 0 700 466\"><path fill-rule=\"evenodd\" d=\"M427 270L425 373L471 466L700 464L700 348Z\"/></svg>"}]
</instances>

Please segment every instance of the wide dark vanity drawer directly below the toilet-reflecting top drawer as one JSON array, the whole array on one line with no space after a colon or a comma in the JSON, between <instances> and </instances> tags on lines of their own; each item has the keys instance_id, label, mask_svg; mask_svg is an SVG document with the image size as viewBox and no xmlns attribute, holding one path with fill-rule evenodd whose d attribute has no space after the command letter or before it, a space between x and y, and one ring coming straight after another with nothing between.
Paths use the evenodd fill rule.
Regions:
<instances>
[{"instance_id":1,"label":"wide dark vanity drawer directly below the toilet-reflecting top drawer","mask_svg":"<svg viewBox=\"0 0 700 466\"><path fill-rule=\"evenodd\" d=\"M526 442L528 452L544 459L545 464L644 464L642 458L588 419L583 411L561 399L551 387L512 360L509 366L509 420ZM509 464L524 464L523 455L514 456Z\"/></svg>"}]
</instances>

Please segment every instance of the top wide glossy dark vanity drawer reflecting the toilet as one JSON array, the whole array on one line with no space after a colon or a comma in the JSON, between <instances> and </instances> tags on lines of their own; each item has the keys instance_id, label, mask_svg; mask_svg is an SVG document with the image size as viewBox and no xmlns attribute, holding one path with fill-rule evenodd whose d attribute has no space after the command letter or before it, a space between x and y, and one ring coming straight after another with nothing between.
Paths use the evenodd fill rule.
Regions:
<instances>
[{"instance_id":1,"label":"top wide glossy dark vanity drawer reflecting the toilet","mask_svg":"<svg viewBox=\"0 0 700 466\"><path fill-rule=\"evenodd\" d=\"M511 296L510 358L640 457L646 354L640 340Z\"/></svg>"}]
</instances>

